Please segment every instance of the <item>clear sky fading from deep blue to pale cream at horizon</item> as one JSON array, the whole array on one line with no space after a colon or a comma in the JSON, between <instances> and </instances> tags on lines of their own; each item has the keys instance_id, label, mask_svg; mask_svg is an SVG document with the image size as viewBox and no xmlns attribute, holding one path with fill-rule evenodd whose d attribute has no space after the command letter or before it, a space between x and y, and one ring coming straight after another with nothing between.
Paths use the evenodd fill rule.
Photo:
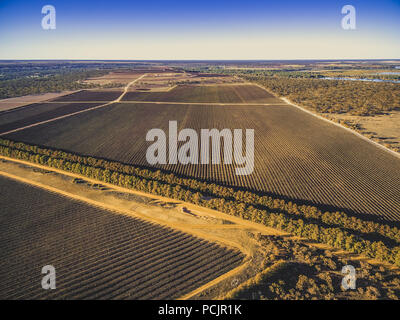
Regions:
<instances>
[{"instance_id":1,"label":"clear sky fading from deep blue to pale cream at horizon","mask_svg":"<svg viewBox=\"0 0 400 320\"><path fill-rule=\"evenodd\" d=\"M399 36L400 0L0 0L0 59L399 59Z\"/></svg>"}]
</instances>

